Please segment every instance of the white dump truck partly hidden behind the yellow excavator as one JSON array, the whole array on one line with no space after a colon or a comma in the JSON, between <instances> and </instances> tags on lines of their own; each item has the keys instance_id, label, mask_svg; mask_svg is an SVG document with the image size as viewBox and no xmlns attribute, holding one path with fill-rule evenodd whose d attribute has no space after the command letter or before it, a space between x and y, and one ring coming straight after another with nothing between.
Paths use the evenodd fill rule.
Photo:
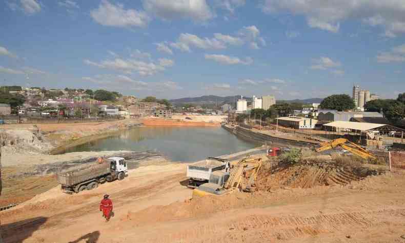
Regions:
<instances>
[{"instance_id":1,"label":"white dump truck partly hidden behind the yellow excavator","mask_svg":"<svg viewBox=\"0 0 405 243\"><path fill-rule=\"evenodd\" d=\"M229 171L230 162L225 158L208 157L199 163L187 166L189 188L197 188L199 185L208 183L214 171Z\"/></svg>"}]
</instances>

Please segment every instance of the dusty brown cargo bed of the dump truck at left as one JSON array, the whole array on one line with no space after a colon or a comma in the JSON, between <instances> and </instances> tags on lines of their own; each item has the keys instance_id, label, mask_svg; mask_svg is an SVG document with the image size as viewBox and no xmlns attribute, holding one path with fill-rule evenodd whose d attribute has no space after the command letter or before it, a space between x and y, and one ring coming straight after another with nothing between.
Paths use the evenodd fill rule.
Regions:
<instances>
[{"instance_id":1,"label":"dusty brown cargo bed of the dump truck at left","mask_svg":"<svg viewBox=\"0 0 405 243\"><path fill-rule=\"evenodd\" d=\"M62 170L56 174L56 179L59 184L73 186L108 173L110 173L110 161L107 160L102 164L94 162Z\"/></svg>"}]
</instances>

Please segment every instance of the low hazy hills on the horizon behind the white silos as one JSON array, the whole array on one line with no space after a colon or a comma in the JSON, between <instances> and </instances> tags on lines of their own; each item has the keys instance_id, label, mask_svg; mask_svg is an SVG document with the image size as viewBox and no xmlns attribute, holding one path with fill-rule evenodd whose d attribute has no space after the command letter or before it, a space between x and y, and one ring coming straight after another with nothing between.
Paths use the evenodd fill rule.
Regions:
<instances>
[{"instance_id":1,"label":"low hazy hills on the horizon behind the white silos","mask_svg":"<svg viewBox=\"0 0 405 243\"><path fill-rule=\"evenodd\" d=\"M245 97L245 96L244 96ZM216 95L204 95L200 97L187 97L187 98L179 98L179 99L171 99L170 103L172 104L215 104L215 102L219 104L222 103L233 103L234 100L240 98L240 95L235 96L216 96ZM252 100L251 97L245 97L247 100ZM312 103L321 103L322 98L309 98L309 99L292 99L292 100L277 100L277 103L304 103L304 104L312 104Z\"/></svg>"}]
</instances>

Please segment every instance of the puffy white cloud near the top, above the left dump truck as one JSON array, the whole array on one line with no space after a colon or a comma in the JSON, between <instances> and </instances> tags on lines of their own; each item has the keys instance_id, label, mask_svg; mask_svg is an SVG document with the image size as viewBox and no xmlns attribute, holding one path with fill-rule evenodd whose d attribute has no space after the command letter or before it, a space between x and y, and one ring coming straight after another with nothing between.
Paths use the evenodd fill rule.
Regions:
<instances>
[{"instance_id":1,"label":"puffy white cloud near the top, above the left dump truck","mask_svg":"<svg viewBox=\"0 0 405 243\"><path fill-rule=\"evenodd\" d=\"M100 25L115 27L146 27L150 17L144 11L124 9L122 4L110 4L103 0L97 9L90 11L91 17Z\"/></svg>"}]
</instances>

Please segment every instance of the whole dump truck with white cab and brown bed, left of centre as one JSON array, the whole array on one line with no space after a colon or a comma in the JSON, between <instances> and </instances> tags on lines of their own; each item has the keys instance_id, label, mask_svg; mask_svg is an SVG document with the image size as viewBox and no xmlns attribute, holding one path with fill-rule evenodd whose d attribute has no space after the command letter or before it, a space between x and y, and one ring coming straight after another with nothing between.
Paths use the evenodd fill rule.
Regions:
<instances>
[{"instance_id":1,"label":"whole dump truck with white cab and brown bed, left of centre","mask_svg":"<svg viewBox=\"0 0 405 243\"><path fill-rule=\"evenodd\" d=\"M74 166L56 174L65 193L92 190L106 181L123 180L128 176L127 161L122 157L99 158L96 163Z\"/></svg>"}]
</instances>

